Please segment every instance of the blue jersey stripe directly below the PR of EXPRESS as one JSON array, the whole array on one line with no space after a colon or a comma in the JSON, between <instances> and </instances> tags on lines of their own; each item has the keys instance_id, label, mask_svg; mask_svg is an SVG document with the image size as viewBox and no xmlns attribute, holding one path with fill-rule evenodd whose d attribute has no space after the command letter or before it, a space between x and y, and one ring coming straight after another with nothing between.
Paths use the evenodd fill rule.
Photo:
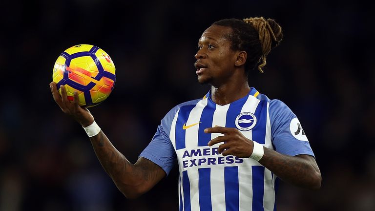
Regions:
<instances>
[{"instance_id":1,"label":"blue jersey stripe directly below the PR of EXPRESS","mask_svg":"<svg viewBox=\"0 0 375 211\"><path fill-rule=\"evenodd\" d=\"M199 174L199 208L201 211L212 211L211 205L211 168L198 169Z\"/></svg>"}]
</instances>

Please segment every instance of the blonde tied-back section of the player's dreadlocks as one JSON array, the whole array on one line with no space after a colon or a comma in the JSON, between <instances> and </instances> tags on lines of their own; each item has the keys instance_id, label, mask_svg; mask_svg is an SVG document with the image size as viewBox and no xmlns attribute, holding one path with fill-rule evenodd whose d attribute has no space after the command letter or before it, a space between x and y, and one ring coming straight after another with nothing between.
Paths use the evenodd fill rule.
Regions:
<instances>
[{"instance_id":1,"label":"blonde tied-back section of the player's dreadlocks","mask_svg":"<svg viewBox=\"0 0 375 211\"><path fill-rule=\"evenodd\" d=\"M266 65L266 56L270 53L271 51L271 45L272 45L272 41L274 42L278 42L276 37L275 37L275 34L270 26L270 23L268 21L270 21L271 19L268 19L267 21L263 18L263 17L255 17L255 18L247 18L247 19L244 19L244 21L246 23L250 23L252 24L252 26L254 27L254 29L258 32L259 34L259 41L260 41L260 44L262 46L262 52L263 52L263 55L261 56L261 60L262 60L262 63L259 64L258 66L258 70L263 73L263 69L262 67L264 67ZM273 20L272 20L273 21ZM278 33L282 33L281 32L281 27L277 24L277 27L279 27L279 30L278 30ZM280 42L280 41L279 41Z\"/></svg>"}]
</instances>

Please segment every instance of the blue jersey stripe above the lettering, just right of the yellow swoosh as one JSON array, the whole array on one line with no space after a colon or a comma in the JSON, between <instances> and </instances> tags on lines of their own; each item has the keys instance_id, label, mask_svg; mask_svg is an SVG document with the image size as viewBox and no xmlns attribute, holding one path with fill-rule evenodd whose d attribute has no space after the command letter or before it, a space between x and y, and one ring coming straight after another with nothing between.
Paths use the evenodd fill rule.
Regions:
<instances>
[{"instance_id":1,"label":"blue jersey stripe above the lettering, just right of the yellow swoosh","mask_svg":"<svg viewBox=\"0 0 375 211\"><path fill-rule=\"evenodd\" d=\"M203 108L201 119L199 122L198 130L198 147L207 146L207 143L211 140L211 133L205 133L204 129L212 127L213 113L216 109L216 104L212 101L207 100L207 105Z\"/></svg>"}]
</instances>

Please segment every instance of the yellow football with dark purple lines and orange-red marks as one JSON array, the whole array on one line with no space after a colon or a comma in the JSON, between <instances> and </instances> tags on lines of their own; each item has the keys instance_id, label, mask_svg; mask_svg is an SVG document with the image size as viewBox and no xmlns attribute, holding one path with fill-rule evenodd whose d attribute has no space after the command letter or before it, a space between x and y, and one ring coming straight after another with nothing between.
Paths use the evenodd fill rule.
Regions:
<instances>
[{"instance_id":1,"label":"yellow football with dark purple lines and orange-red marks","mask_svg":"<svg viewBox=\"0 0 375 211\"><path fill-rule=\"evenodd\" d=\"M104 50L90 44L79 44L66 49L57 58L52 80L60 94L60 86L65 86L70 102L77 91L79 105L92 107L102 103L112 92L115 70L115 64Z\"/></svg>"}]
</instances>

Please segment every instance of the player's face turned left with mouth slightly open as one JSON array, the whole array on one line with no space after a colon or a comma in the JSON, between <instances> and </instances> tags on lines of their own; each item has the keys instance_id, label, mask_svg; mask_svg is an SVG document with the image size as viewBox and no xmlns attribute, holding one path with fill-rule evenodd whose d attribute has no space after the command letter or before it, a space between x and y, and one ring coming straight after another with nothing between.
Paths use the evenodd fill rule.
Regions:
<instances>
[{"instance_id":1,"label":"player's face turned left with mouth slightly open","mask_svg":"<svg viewBox=\"0 0 375 211\"><path fill-rule=\"evenodd\" d=\"M236 52L230 49L230 33L230 27L219 25L212 25L203 32L194 64L199 83L219 86L226 83L233 73Z\"/></svg>"}]
</instances>

